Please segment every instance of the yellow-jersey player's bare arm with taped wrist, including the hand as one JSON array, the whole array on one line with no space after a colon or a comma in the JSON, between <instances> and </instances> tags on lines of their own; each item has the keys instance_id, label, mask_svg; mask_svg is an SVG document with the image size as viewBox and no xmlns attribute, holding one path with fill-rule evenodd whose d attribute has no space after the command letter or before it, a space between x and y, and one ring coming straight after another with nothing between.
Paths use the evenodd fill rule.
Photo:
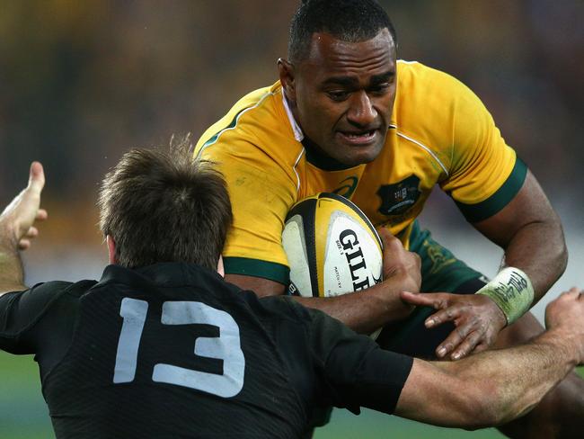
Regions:
<instances>
[{"instance_id":1,"label":"yellow-jersey player's bare arm with taped wrist, including the hand","mask_svg":"<svg viewBox=\"0 0 584 439\"><path fill-rule=\"evenodd\" d=\"M461 358L484 350L500 329L521 317L556 282L567 264L562 224L544 191L528 170L518 193L500 211L473 226L501 246L500 273L479 294L417 296L412 304L438 312L426 325L456 323L456 331L438 346L438 356Z\"/></svg>"}]
</instances>

